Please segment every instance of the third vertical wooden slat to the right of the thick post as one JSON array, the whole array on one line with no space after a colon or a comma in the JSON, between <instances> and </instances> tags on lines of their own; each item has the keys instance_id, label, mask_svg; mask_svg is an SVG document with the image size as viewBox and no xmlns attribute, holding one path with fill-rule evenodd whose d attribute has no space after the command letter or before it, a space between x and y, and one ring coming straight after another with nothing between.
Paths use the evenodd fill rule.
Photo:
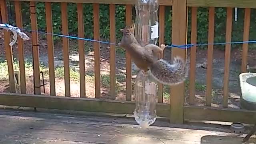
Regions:
<instances>
[{"instance_id":1,"label":"third vertical wooden slat to the right of the thick post","mask_svg":"<svg viewBox=\"0 0 256 144\"><path fill-rule=\"evenodd\" d=\"M231 42L232 33L232 8L227 8L226 22L226 42ZM224 68L224 88L223 88L223 107L228 107L228 83L229 83L229 64L230 64L231 44L225 46L225 68Z\"/></svg>"}]
</instances>

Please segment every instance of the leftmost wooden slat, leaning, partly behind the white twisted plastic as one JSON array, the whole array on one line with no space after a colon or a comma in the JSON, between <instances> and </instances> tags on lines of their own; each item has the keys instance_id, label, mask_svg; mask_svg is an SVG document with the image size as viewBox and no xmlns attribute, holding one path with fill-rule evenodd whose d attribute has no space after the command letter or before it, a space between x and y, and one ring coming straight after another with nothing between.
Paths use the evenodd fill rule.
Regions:
<instances>
[{"instance_id":1,"label":"leftmost wooden slat, leaning, partly behind the white twisted plastic","mask_svg":"<svg viewBox=\"0 0 256 144\"><path fill-rule=\"evenodd\" d=\"M1 0L0 6L1 6L2 23L8 24L6 0ZM16 85L15 85L15 80L14 80L12 46L9 45L10 32L8 32L7 30L3 30L3 31L4 31L4 47L5 47L5 55L6 55L7 66L8 66L10 92L15 93Z\"/></svg>"}]
</instances>

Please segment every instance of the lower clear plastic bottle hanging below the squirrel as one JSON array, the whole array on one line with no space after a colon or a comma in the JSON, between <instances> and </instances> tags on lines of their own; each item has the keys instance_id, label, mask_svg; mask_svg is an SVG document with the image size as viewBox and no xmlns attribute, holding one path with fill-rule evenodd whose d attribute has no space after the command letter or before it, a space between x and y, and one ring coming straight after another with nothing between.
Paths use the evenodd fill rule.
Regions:
<instances>
[{"instance_id":1,"label":"lower clear plastic bottle hanging below the squirrel","mask_svg":"<svg viewBox=\"0 0 256 144\"><path fill-rule=\"evenodd\" d=\"M134 118L141 128L156 121L157 83L150 80L148 72L141 70L135 79Z\"/></svg>"}]
</instances>

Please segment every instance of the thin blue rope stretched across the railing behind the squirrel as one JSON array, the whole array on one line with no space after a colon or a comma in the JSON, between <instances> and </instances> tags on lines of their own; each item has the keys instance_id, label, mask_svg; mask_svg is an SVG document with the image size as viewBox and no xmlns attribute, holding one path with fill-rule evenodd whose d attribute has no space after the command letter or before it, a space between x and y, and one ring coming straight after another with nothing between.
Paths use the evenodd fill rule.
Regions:
<instances>
[{"instance_id":1,"label":"thin blue rope stretched across the railing behind the squirrel","mask_svg":"<svg viewBox=\"0 0 256 144\"><path fill-rule=\"evenodd\" d=\"M8 28L9 24L5 24L5 25L6 25L6 28ZM48 33L48 32L40 32L40 31L36 31L36 30L26 30L26 29L21 29L21 28L18 28L18 29L28 31L28 32L37 32L37 33L41 33L41 34L50 34L50 35L53 35L53 36L60 36L60 37L65 37L65 38L73 38L73 39L78 39L78 40L86 40L86 41L90 41L90 42L100 42L100 43L104 43L104 44L117 45L117 44L112 43L112 42L93 40L93 39L88 39L88 38L79 38L79 37L76 37L76 36L67 36L67 35L63 35L63 34L53 34L53 33ZM207 44L183 44L183 45L171 44L171 45L166 46L166 48L187 49L187 48L191 48L193 46L208 46L208 45L223 45L223 44L244 44L244 43L256 43L256 40L240 41L240 42L219 42L219 43L207 43Z\"/></svg>"}]
</instances>

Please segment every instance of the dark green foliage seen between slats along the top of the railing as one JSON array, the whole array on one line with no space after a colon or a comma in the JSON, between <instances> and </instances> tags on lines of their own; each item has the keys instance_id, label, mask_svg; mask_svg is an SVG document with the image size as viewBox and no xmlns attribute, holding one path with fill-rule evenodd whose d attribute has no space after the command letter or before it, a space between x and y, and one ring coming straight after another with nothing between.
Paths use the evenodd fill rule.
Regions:
<instances>
[{"instance_id":1,"label":"dark green foliage seen between slats along the top of the railing","mask_svg":"<svg viewBox=\"0 0 256 144\"><path fill-rule=\"evenodd\" d=\"M12 16L9 16L10 23L15 23L14 6L12 2L8 2L8 8ZM84 36L86 38L93 38L93 5L83 4L84 11ZM46 16L44 2L36 3L36 14L38 22L38 30L46 31ZM133 20L135 18L135 10L133 8ZM102 40L109 40L110 38L110 21L109 21L109 5L100 4L100 37ZM116 41L120 41L122 34L120 29L125 26L125 6L116 5ZM234 15L234 9L233 9ZM256 25L256 10L251 10L251 24L250 24L250 40L256 40L256 32L254 29ZM30 21L30 6L29 2L22 2L22 19L25 29L31 29ZM238 21L234 21L232 16L232 41L243 40L244 28L244 9L238 8ZM226 8L215 8L215 23L214 23L214 42L226 41ZM197 43L208 43L208 8L200 7L197 13ZM52 3L52 24L53 31L56 34L61 34L62 21L61 21L61 8L60 3ZM78 21L77 21L77 5L75 3L68 3L68 27L69 34L77 36L78 34ZM191 8L188 12L188 43L190 43L191 32ZM165 43L171 44L172 33L172 8L166 6L165 11ZM59 37L54 37L54 40L60 40ZM241 46L241 44L233 44L232 48ZM249 44L250 48L256 48L254 44ZM224 45L217 45L216 48L224 49ZM206 49L207 46L198 47Z\"/></svg>"}]
</instances>

